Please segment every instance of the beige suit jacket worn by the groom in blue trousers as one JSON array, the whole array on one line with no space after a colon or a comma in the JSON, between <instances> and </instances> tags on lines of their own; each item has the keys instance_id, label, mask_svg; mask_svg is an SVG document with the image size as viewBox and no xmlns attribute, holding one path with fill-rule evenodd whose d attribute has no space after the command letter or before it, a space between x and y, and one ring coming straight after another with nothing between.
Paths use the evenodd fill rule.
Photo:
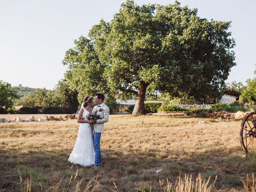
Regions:
<instances>
[{"instance_id":1,"label":"beige suit jacket worn by the groom in blue trousers","mask_svg":"<svg viewBox=\"0 0 256 192\"><path fill-rule=\"evenodd\" d=\"M100 111L101 109L101 111ZM100 117L102 119L98 119L96 124L94 124L94 131L97 133L103 133L104 132L104 123L108 122L108 117L109 117L109 108L108 106L106 106L104 103L102 103L100 105L100 107L98 107L97 105L94 106L94 108L92 109L92 112L97 112L98 115L100 115Z\"/></svg>"}]
</instances>

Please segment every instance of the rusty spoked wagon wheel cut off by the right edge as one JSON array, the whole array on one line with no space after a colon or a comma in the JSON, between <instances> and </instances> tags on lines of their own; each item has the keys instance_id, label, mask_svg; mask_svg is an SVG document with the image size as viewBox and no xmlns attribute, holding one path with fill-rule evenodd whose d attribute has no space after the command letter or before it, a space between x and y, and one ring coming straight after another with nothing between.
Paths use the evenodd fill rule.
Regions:
<instances>
[{"instance_id":1,"label":"rusty spoked wagon wheel cut off by the right edge","mask_svg":"<svg viewBox=\"0 0 256 192\"><path fill-rule=\"evenodd\" d=\"M240 129L240 143L247 153L256 151L256 113L251 112L243 119Z\"/></svg>"}]
</instances>

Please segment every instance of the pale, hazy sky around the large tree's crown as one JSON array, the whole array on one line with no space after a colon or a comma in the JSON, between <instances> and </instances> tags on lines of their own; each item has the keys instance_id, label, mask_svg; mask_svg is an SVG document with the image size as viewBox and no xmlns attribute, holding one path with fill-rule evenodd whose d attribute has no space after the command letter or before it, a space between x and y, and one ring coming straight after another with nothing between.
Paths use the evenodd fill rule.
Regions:
<instances>
[{"instance_id":1,"label":"pale, hazy sky around the large tree's crown","mask_svg":"<svg viewBox=\"0 0 256 192\"><path fill-rule=\"evenodd\" d=\"M62 65L74 39L87 36L103 18L109 22L124 0L0 0L0 80L12 86L52 89L64 78ZM174 0L135 0L136 4L173 4ZM232 21L237 65L227 82L254 78L255 0L180 0L198 8L201 18Z\"/></svg>"}]
</instances>

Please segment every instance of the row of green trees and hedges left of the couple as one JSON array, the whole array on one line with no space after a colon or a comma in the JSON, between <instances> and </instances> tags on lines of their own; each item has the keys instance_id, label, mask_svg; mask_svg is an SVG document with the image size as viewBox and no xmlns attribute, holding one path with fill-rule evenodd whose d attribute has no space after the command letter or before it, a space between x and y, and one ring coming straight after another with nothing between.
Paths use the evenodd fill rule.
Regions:
<instances>
[{"instance_id":1,"label":"row of green trees and hedges left of the couple","mask_svg":"<svg viewBox=\"0 0 256 192\"><path fill-rule=\"evenodd\" d=\"M19 88L12 87L9 83L0 80L0 106L4 109L13 106L58 106L68 109L69 113L78 110L78 92L70 89L66 80L60 80L54 90L46 88L30 90L26 95L18 95ZM29 90L29 89L27 89Z\"/></svg>"}]
</instances>

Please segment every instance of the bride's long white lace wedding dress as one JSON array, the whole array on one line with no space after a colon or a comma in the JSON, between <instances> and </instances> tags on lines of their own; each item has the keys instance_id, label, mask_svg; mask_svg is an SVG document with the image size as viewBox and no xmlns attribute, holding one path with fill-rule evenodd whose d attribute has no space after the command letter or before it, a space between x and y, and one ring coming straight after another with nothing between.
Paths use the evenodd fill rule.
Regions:
<instances>
[{"instance_id":1,"label":"bride's long white lace wedding dress","mask_svg":"<svg viewBox=\"0 0 256 192\"><path fill-rule=\"evenodd\" d=\"M85 108L82 117L90 113ZM87 120L87 119L86 119ZM76 144L68 158L68 161L81 166L93 166L95 152L93 147L92 128L89 123L80 123Z\"/></svg>"}]
</instances>

